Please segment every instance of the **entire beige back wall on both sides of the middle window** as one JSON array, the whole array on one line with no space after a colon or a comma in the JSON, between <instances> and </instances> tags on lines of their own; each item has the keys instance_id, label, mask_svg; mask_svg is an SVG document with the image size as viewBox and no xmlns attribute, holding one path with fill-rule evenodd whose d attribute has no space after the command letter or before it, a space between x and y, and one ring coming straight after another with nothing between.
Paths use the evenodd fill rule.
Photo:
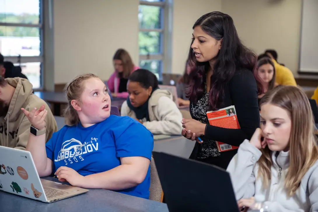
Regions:
<instances>
[{"instance_id":1,"label":"entire beige back wall on both sides of the middle window","mask_svg":"<svg viewBox=\"0 0 318 212\"><path fill-rule=\"evenodd\" d=\"M277 2L277 3L270 3ZM108 79L117 48L129 51L139 63L139 0L55 0L54 82L66 83L81 73ZM301 0L174 0L172 72L183 73L192 26L205 13L231 15L240 38L256 53L274 48L279 62L294 75L298 69Z\"/></svg>"}]
</instances>

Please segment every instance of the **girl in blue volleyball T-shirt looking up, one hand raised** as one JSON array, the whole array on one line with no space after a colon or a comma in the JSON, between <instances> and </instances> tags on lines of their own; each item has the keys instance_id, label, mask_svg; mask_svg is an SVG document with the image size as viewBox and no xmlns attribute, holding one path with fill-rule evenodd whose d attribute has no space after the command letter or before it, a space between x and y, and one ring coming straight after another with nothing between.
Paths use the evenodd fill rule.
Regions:
<instances>
[{"instance_id":1,"label":"girl in blue volleyball T-shirt looking up, one hand raised","mask_svg":"<svg viewBox=\"0 0 318 212\"><path fill-rule=\"evenodd\" d=\"M40 177L56 174L81 188L104 188L149 198L153 136L129 117L110 115L105 84L93 74L76 77L66 86L66 126L45 144L44 106L31 113L26 147ZM35 128L35 129L34 129Z\"/></svg>"}]
</instances>

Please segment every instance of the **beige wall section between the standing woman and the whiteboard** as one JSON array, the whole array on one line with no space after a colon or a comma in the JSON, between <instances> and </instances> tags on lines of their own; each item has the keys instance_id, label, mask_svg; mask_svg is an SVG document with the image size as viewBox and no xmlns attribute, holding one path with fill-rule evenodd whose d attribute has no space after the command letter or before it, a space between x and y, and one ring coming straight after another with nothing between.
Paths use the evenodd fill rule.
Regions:
<instances>
[{"instance_id":1,"label":"beige wall section between the standing woman and the whiteboard","mask_svg":"<svg viewBox=\"0 0 318 212\"><path fill-rule=\"evenodd\" d=\"M232 16L247 47L258 54L275 49L278 61L297 75L301 0L222 0L222 12Z\"/></svg>"}]
</instances>

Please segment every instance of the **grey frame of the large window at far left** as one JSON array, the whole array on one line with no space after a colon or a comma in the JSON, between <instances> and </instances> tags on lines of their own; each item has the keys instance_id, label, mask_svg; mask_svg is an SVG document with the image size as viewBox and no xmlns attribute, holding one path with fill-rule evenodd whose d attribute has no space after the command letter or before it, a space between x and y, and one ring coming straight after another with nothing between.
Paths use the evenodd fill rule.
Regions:
<instances>
[{"instance_id":1,"label":"grey frame of the large window at far left","mask_svg":"<svg viewBox=\"0 0 318 212\"><path fill-rule=\"evenodd\" d=\"M40 55L39 56L6 56L3 55L5 61L10 61L13 64L17 63L40 63L40 86L33 89L34 91L42 91L44 87L43 80L43 64L44 64L44 30L43 30L43 0L39 0L39 23L38 24L25 24L25 23L10 23L0 22L0 26L13 26L13 27L34 27L39 29L40 39Z\"/></svg>"}]
</instances>

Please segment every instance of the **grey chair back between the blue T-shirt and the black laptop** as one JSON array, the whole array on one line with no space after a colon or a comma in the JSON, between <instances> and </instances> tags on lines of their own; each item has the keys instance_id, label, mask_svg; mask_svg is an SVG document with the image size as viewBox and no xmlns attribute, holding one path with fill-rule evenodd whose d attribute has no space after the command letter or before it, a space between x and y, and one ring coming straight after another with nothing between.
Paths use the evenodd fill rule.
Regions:
<instances>
[{"instance_id":1,"label":"grey chair back between the blue T-shirt and the black laptop","mask_svg":"<svg viewBox=\"0 0 318 212\"><path fill-rule=\"evenodd\" d=\"M163 198L163 193L162 193L161 183L159 180L154 158L151 156L149 200L162 202L162 198Z\"/></svg>"}]
</instances>

